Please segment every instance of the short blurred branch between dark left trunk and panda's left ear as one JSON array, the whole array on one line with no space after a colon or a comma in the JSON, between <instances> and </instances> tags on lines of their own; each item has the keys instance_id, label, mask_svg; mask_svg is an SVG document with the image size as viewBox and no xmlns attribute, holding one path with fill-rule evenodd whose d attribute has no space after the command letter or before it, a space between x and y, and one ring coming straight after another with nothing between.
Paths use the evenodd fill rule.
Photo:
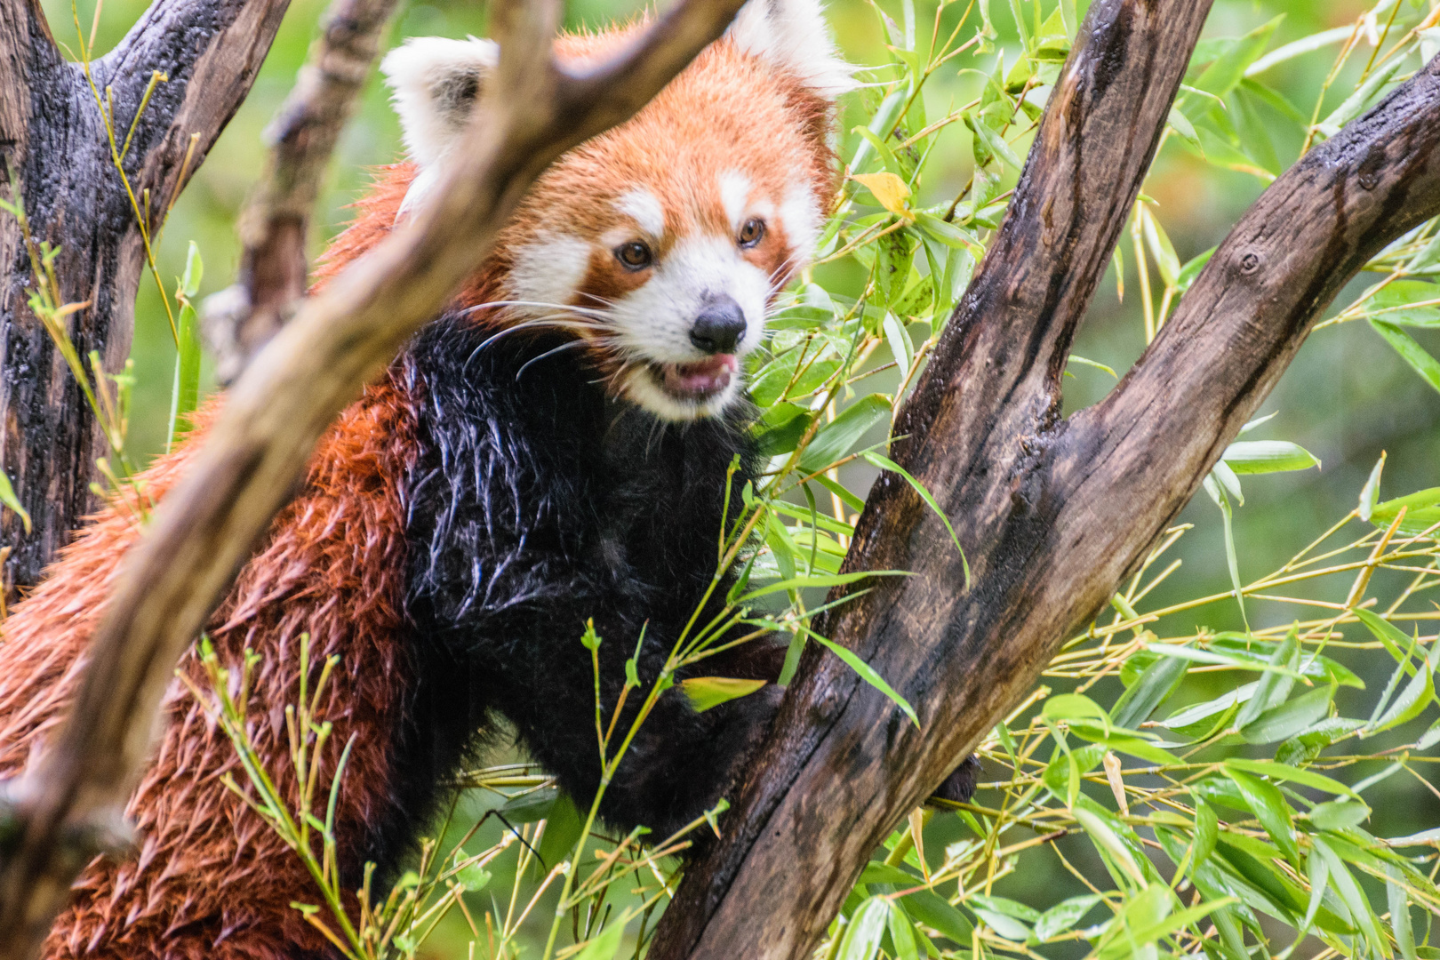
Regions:
<instances>
[{"instance_id":1,"label":"short blurred branch between dark left trunk and panda's left ear","mask_svg":"<svg viewBox=\"0 0 1440 960\"><path fill-rule=\"evenodd\" d=\"M220 383L239 376L305 295L305 243L320 180L396 6L397 0L334 0L295 89L266 131L269 163L240 214L239 282L204 308Z\"/></svg>"}]
</instances>

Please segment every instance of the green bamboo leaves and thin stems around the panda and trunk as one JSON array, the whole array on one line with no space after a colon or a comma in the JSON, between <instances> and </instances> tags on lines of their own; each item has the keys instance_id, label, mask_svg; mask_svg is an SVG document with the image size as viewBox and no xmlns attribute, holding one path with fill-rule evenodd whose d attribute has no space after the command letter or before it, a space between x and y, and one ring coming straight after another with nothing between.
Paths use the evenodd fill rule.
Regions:
<instances>
[{"instance_id":1,"label":"green bamboo leaves and thin stems around the panda and trunk","mask_svg":"<svg viewBox=\"0 0 1440 960\"><path fill-rule=\"evenodd\" d=\"M1286 135L1302 150L1333 135L1440 47L1440 9L1423 6L1381 0L1354 26L1274 49L1277 22L1202 40L1165 141L1194 163L1273 181L1284 167ZM1005 214L1083 4L1008 0L1015 36L1004 46L999 4L991 0L926 7L933 22L913 0L871 7L891 59L871 72L877 79L861 95L865 117L847 140L847 180L816 266L778 305L769 351L750 370L760 406L755 429L770 462L760 482L732 491L714 584L732 566L740 580L717 620L691 623L680 638L660 682L626 687L625 697L645 704L635 724L674 672L716 652L734 625L753 636L788 633L786 674L805 643L825 645L914 715L883 676L809 623L829 587L858 580L838 570L876 471L914 485L943 518L930 492L888 458L891 425ZM1333 47L1309 115L1269 83L1273 71L1319 63ZM927 83L956 72L973 98L932 115ZM956 151L966 154L968 170L946 193L937 170ZM16 210L23 210L17 197ZM1182 261L1162 209L1145 194L1129 240L1128 253L1116 250L1117 292L1129 258L1149 343L1211 252ZM199 286L197 256L194 268L176 284L181 347L193 343L186 311ZM1427 331L1440 328L1440 227L1417 227L1365 269L1378 279L1320 328L1367 321L1440 390L1440 361L1424 347ZM39 295L53 285L43 273L36 281ZM62 309L58 294L52 299L52 312ZM199 383L194 348L179 356L171 433L194 407ZM1071 367L1115 376L1079 356ZM1261 426L1273 432L1284 422L1246 429ZM1320 463L1283 439L1231 445L1205 479L1220 511L1230 589L1191 589L1176 576L1181 563L1172 557L1192 527L1168 530L1113 597L1113 615L1070 638L1044 685L978 746L988 779L975 802L914 810L865 866L818 956L1440 956L1430 925L1440 913L1440 828L1380 836L1368 826L1401 779L1440 800L1431 783L1440 643L1423 632L1440 616L1427 597L1440 584L1440 488L1381 499L1384 463L1381 456L1349 514L1247 581L1248 556L1236 537L1241 478L1279 482L1257 475ZM0 499L4 494L0 484ZM956 538L962 556L963 545ZM1243 630L1214 626L1231 603ZM576 655L595 658L602 642L622 638L589 630L580 640ZM1367 685L1377 662L1385 665L1381 682ZM196 695L242 760L251 759L242 764L248 786L233 787L310 866L325 905L297 908L350 957L416 956L456 913L468 956L639 957L677 882L674 855L693 830L714 829L724 815L721 805L660 842L638 830L608 838L596 832L596 806L577 810L528 764L468 771L459 779L465 803L504 822L500 841L467 852L475 823L441 855L441 838L465 813L452 809L416 869L356 920L320 809L321 797L333 807L343 776L324 784L305 773L323 750L343 747L328 743L324 718L310 715L302 692L287 720L298 782L310 786L301 806L287 809L271 786L276 773L255 763L245 738L243 678L232 699L225 692L232 678L213 658L206 666L212 689ZM752 691L753 684L713 676L684 685L697 708ZM596 743L611 770L636 728L618 730L618 717L619 707L596 704ZM1022 874L1047 882L1037 892L1020 882Z\"/></svg>"}]
</instances>

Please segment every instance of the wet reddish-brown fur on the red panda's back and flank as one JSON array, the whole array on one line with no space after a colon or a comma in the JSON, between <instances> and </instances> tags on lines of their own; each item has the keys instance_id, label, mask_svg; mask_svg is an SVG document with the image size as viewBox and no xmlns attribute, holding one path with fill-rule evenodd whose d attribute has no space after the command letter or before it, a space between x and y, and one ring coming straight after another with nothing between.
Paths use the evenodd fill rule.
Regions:
<instances>
[{"instance_id":1,"label":"wet reddish-brown fur on the red panda's back and flank","mask_svg":"<svg viewBox=\"0 0 1440 960\"><path fill-rule=\"evenodd\" d=\"M323 440L302 494L276 517L269 543L209 630L230 666L246 648L262 655L251 735L291 794L282 711L297 694L300 633L310 632L317 661L341 656L321 712L337 727L327 764L356 735L354 773L346 777L340 810L351 846L356 830L389 802L374 787L384 783L390 715L410 682L400 642L405 527L395 478L412 448L405 397L390 384L367 390ZM164 495L193 449L147 471L154 495ZM138 533L128 511L102 512L4 623L0 776L17 773L60 720L117 560ZM203 688L193 653L180 669ZM223 773L245 782L229 740L180 684L170 688L164 711L166 733L128 807L138 856L96 861L84 872L45 956L271 960L321 953L321 936L289 907L314 898L300 859L220 783Z\"/></svg>"}]
</instances>

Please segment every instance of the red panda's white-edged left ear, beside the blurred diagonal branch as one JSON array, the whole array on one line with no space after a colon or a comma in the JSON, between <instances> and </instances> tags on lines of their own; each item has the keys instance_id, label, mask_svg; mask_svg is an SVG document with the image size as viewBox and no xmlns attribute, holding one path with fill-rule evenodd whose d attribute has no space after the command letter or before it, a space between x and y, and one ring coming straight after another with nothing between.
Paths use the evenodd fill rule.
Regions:
<instances>
[{"instance_id":1,"label":"red panda's white-edged left ear, beside the blurred diagonal branch","mask_svg":"<svg viewBox=\"0 0 1440 960\"><path fill-rule=\"evenodd\" d=\"M498 56L500 47L491 40L429 36L410 37L380 62L400 115L406 153L419 167L402 212L436 183L438 167L465 132L465 121Z\"/></svg>"}]
</instances>

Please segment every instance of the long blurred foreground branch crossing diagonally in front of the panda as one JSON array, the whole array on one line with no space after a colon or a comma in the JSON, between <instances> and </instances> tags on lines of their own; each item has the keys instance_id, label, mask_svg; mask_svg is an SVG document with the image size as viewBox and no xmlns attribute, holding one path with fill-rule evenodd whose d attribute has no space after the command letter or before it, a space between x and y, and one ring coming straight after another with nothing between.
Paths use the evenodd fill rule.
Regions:
<instances>
[{"instance_id":1,"label":"long blurred foreground branch crossing diagonally in front of the panda","mask_svg":"<svg viewBox=\"0 0 1440 960\"><path fill-rule=\"evenodd\" d=\"M124 805L176 661L289 498L330 420L474 272L540 171L660 92L740 6L681 0L628 50L586 72L554 60L556 0L492 6L495 81L436 200L305 301L261 351L127 557L76 701L10 790L0 959L27 957L43 937L84 865L63 856L65 838Z\"/></svg>"}]
</instances>

